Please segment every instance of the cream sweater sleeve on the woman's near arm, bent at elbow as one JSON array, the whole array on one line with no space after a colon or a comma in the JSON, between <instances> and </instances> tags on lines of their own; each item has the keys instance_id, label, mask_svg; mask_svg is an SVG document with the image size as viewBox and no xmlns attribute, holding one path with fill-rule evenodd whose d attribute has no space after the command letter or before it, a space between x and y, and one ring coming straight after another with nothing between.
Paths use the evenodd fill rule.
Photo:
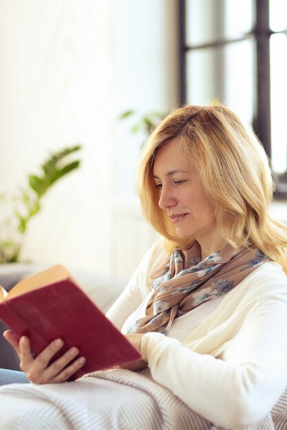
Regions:
<instances>
[{"instance_id":1,"label":"cream sweater sleeve on the woman's near arm, bent at elbow","mask_svg":"<svg viewBox=\"0 0 287 430\"><path fill-rule=\"evenodd\" d=\"M286 389L286 327L287 292L259 300L221 357L153 332L141 350L155 381L204 418L240 429L264 418Z\"/></svg>"}]
</instances>

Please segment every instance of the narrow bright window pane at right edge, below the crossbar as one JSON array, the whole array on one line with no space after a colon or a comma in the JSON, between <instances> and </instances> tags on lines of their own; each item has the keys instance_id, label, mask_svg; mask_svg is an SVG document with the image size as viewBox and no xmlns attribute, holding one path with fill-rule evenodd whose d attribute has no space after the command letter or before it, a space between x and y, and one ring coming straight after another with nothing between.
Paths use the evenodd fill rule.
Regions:
<instances>
[{"instance_id":1,"label":"narrow bright window pane at right edge, below the crossbar","mask_svg":"<svg viewBox=\"0 0 287 430\"><path fill-rule=\"evenodd\" d=\"M287 170L287 52L286 34L270 37L271 158L273 170Z\"/></svg>"}]
</instances>

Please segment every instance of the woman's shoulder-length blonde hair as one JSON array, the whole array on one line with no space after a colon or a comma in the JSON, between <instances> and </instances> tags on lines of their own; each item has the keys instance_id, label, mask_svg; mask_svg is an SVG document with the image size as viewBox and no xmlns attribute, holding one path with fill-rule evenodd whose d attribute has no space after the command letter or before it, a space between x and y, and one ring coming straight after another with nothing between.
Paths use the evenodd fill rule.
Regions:
<instances>
[{"instance_id":1,"label":"woman's shoulder-length blonde hair","mask_svg":"<svg viewBox=\"0 0 287 430\"><path fill-rule=\"evenodd\" d=\"M268 158L255 134L225 106L184 106L168 115L142 148L138 192L142 213L164 238L167 251L190 247L193 238L175 234L158 205L153 163L160 148L177 138L198 170L215 219L232 247L255 245L287 273L287 228L268 214L273 180Z\"/></svg>"}]
</instances>

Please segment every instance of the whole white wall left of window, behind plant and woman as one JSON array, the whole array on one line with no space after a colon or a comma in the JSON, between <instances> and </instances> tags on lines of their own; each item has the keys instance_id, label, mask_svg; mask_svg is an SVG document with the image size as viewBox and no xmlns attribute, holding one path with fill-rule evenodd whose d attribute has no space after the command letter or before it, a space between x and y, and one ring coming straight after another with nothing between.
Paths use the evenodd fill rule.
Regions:
<instances>
[{"instance_id":1,"label":"whole white wall left of window, behind plant and woman","mask_svg":"<svg viewBox=\"0 0 287 430\"><path fill-rule=\"evenodd\" d=\"M130 185L141 142L117 117L176 106L174 34L173 0L0 0L0 192L50 151L84 147L31 220L23 260L128 277L156 238Z\"/></svg>"}]
</instances>

